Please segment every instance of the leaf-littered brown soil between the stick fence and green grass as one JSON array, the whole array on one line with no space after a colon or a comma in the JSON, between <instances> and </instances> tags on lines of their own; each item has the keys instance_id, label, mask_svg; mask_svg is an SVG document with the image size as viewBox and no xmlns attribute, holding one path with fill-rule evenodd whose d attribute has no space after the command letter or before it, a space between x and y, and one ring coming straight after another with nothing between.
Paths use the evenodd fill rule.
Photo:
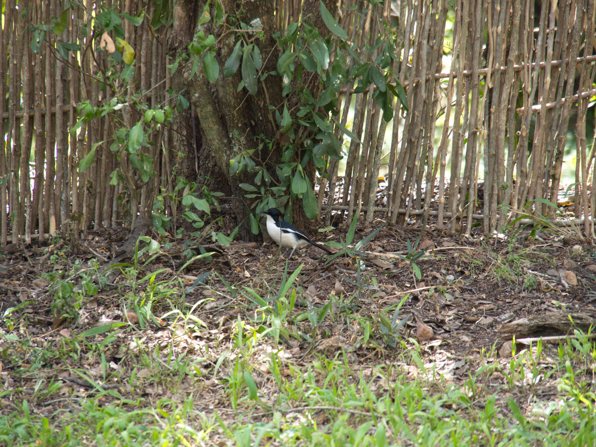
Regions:
<instances>
[{"instance_id":1,"label":"leaf-littered brown soil between the stick fence and green grass","mask_svg":"<svg viewBox=\"0 0 596 447\"><path fill-rule=\"evenodd\" d=\"M264 314L249 299L248 289L266 301L279 292L284 275L289 277L300 265L290 288L290 293L297 292L296 302L281 321L286 331L281 332L280 344L275 346L272 336L268 346L254 347L253 353L262 350L254 359L265 376L259 386L269 383L266 360L271 350L283 349L284 374L321 356L336 358L344 352L354 370L395 364L416 375L417 368L402 364L403 350L416 343L425 365L446 380L465 381L476 371L482 353L491 353L495 362L511 355L511 346L501 349L507 339L496 331L501 325L520 318L548 320L550 315L595 312L595 252L573 231L542 229L531 237L532 228L526 228L515 238L473 234L467 240L431 223L421 238L426 256L415 261L421 274L417 278L411 262L398 255L408 255L407 241L414 244L420 227L398 228L376 219L357 226L352 244L380 226L366 254L359 256L364 262L359 273L355 257L325 263L315 247L294 254L284 273L286 262L277 246L242 241L229 247L204 244L207 252L217 253L184 266L187 247L164 240L172 243L169 248L155 254L145 251L133 270L127 269L135 266L134 259L123 260L128 265L120 268L128 274L113 269L105 283L98 280L95 260L112 259L126 240L126 229L90 232L74 243L54 240L53 246L9 247L0 259L5 333L0 368L6 391L0 408L5 412L11 402L27 399L35 411L50 415L71 408L72 399L84 398L98 387L118 389L130 399L142 396L150 405L158 398L175 399L195 390L201 396L195 402L198 409L219 409L224 417L229 402L218 390L230 366L222 356L233 360L237 355L232 354L237 322L262 331ZM346 231L342 222L315 239L340 243ZM156 233L148 235L157 239ZM151 272L158 272L153 280ZM405 316L409 319L392 333L383 318L391 321L404 297L394 326ZM318 312L330 301L327 318L313 333L309 312ZM370 322L369 334L358 324L362 321ZM531 335L566 334L550 329ZM139 353L141 344L153 352L148 360ZM149 380L154 374L151 365L172 370L169 359L159 356L166 350L170 356L195 359L200 377L191 380L170 371L167 379ZM503 380L499 374L488 379ZM540 386L535 395L548 398L557 393L551 381ZM51 393L40 394L40 387ZM517 398L522 406L527 404L527 396ZM215 442L218 435L213 436Z\"/></svg>"}]
</instances>

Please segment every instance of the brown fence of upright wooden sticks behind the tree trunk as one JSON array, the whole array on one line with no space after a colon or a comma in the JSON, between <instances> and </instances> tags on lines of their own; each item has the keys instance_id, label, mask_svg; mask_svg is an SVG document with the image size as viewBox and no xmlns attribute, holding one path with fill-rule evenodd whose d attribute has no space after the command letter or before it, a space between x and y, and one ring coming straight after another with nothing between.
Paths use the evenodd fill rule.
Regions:
<instances>
[{"instance_id":1,"label":"brown fence of upright wooden sticks behind the tree trunk","mask_svg":"<svg viewBox=\"0 0 596 447\"><path fill-rule=\"evenodd\" d=\"M147 17L153 16L153 2L114 0L112 6L131 16L145 8L140 26L122 21L137 65L134 82L120 87L129 97L148 91L148 106L159 107L170 101L169 30L151 26ZM348 68L376 63L381 47L375 42L387 34L390 6L385 2L365 10L356 0L341 2L338 23L354 48L362 50L356 52L359 60L344 54ZM105 103L113 92L96 81L106 69L105 54L95 48L88 26L100 2L73 5L63 29L54 27L60 33L41 33L38 25L51 26L63 7L58 0L20 0L18 9L15 0L5 3L0 27L0 79L5 80L0 83L2 245L20 235L30 241L36 233L55 231L79 237L80 231L115 225L150 209L159 188L172 191L172 160L164 151L172 135L166 128L151 135L155 178L110 182L117 166L110 141L119 126L131 128L139 119L135 110L126 111L123 123L107 115L69 132L79 107ZM297 2L282 0L276 8L284 11L277 15L280 29L301 17ZM348 127L352 121L360 142L346 144L342 185L340 163L329 160L330 178L321 179L318 198L325 222L331 210L347 218L365 211L367 221L377 211L393 223L436 216L439 228L458 226L468 235L472 221L480 220L484 231L492 232L520 215L508 210L547 215L544 200L557 202L563 163L573 152L575 218L594 238L596 194L589 191L596 179L594 0L402 0L398 9L399 24L389 28L387 40L394 53L389 81L395 88L403 86L406 97L395 98L393 120L387 123L374 99L375 86L359 93L353 85L343 86L338 119ZM79 52L69 49L74 45ZM331 57L339 51L335 48ZM388 126L389 154L384 157ZM576 147L566 153L571 130ZM342 138L339 126L335 135ZM95 161L81 173L77 166L91 150ZM387 206L378 207L383 159L389 163ZM129 169L128 160L119 163L122 171Z\"/></svg>"}]
</instances>

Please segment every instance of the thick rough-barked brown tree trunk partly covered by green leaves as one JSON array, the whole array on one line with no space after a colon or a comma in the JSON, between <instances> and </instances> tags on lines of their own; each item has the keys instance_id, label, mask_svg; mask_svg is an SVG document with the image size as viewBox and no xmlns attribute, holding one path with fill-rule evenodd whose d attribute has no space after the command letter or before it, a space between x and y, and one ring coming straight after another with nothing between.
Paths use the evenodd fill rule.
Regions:
<instances>
[{"instance_id":1,"label":"thick rough-barked brown tree trunk partly covered by green leaves","mask_svg":"<svg viewBox=\"0 0 596 447\"><path fill-rule=\"evenodd\" d=\"M193 105L195 113L195 134L198 154L198 175L209 176L212 179L213 189L224 192L232 197L231 207L237 218L240 229L238 237L243 240L256 240L257 236L250 231L250 220L246 219L250 213L252 200L244 197L246 191L238 185L241 183L253 184L254 174L246 173L229 176L229 162L241 151L256 150L259 146L259 137L274 141L272 153L269 148L262 149L262 160L268 160L266 167L270 175L275 175L275 166L281 160L280 148L284 143L289 142L287 134L280 134L275 121L275 110L269 110L269 105L278 108L283 104L281 79L277 75L269 75L260 80L260 75L277 70L279 49L277 42L272 37L278 29L278 18L274 15L275 9L268 0L254 0L244 2L242 10L238 12L238 4L232 0L223 0L223 10L229 17L236 17L239 21L254 26L257 19L262 24L262 33L245 33L244 38L259 47L263 61L262 70L257 75L257 94L253 95L244 87L238 91L238 85L243 79L241 70L231 77L224 76L224 66L229 55L232 54L237 43L237 33L229 27L232 20L227 20L226 25L213 25L213 20L195 26L198 18L203 14L206 2L198 2L195 5L192 1L176 1L173 8L173 30L168 41L168 48L172 58L175 54L187 52L187 45L193 40L195 33L203 31L207 36L212 34L216 39L216 60L220 71L219 77L214 83L210 83L203 69L203 55L198 57L200 61L198 69L193 72L193 64L179 62L178 70L173 75L172 85L176 91L183 91L183 95ZM331 4L330 7L335 9ZM305 11L311 11L312 17L309 21L319 26L322 33L327 34L320 14L318 14L319 2L308 0L303 6ZM215 17L216 10L213 5L210 7L211 17ZM297 14L294 14L297 17ZM291 18L290 18L291 20ZM320 22L320 23L319 23ZM237 25L234 25L238 27ZM195 67L196 68L196 67ZM191 73L193 76L191 76ZM318 86L318 79L311 79L313 86ZM312 91L317 95L318 92ZM290 109L290 105L287 107ZM278 109L279 110L279 109ZM282 109L283 110L283 109ZM174 147L177 151L184 153L185 163L191 163L194 168L195 149L193 148L193 123L188 117L178 117L173 123L174 135L179 135L179 144ZM176 137L178 138L178 137ZM253 157L259 157L255 151ZM300 154L296 154L298 159ZM196 172L196 171L195 171ZM302 207L294 206L295 210L302 212Z\"/></svg>"}]
</instances>

